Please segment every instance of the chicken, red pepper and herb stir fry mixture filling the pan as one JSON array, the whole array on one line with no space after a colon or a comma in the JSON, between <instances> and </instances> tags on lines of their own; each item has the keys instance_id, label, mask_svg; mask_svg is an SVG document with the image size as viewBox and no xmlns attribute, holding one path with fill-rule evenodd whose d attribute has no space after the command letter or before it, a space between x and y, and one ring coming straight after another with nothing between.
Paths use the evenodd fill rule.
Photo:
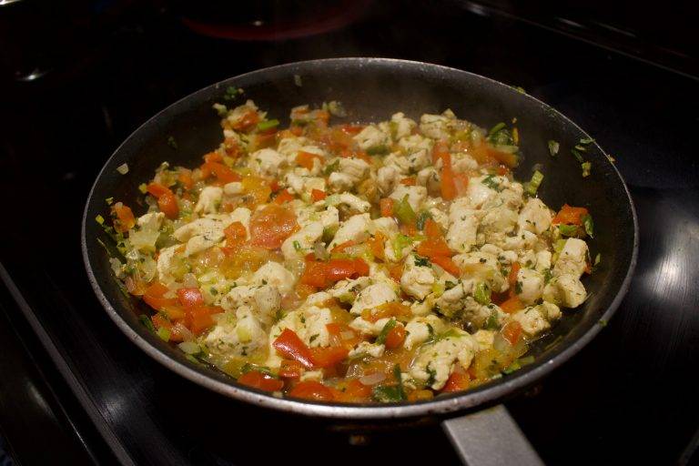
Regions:
<instances>
[{"instance_id":1,"label":"chicken, red pepper and herb stir fry mixture filling the pan","mask_svg":"<svg viewBox=\"0 0 699 466\"><path fill-rule=\"evenodd\" d=\"M281 129L249 100L216 108L203 164L163 163L147 212L107 199L113 227L97 218L142 321L188 358L278 396L429 400L531 362L586 298L593 219L547 207L539 171L512 178L516 127L330 125L332 102Z\"/></svg>"}]
</instances>

